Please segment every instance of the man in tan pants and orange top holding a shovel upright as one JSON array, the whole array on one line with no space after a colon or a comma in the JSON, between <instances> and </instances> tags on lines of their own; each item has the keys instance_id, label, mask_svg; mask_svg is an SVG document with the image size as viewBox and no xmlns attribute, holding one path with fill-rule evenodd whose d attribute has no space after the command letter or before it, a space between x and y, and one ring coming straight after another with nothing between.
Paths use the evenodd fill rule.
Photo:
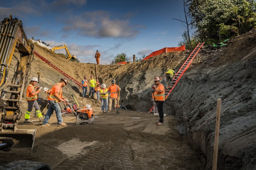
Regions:
<instances>
[{"instance_id":1,"label":"man in tan pants and orange top holding a shovel upright","mask_svg":"<svg viewBox=\"0 0 256 170\"><path fill-rule=\"evenodd\" d=\"M111 111L112 107L112 101L114 101L114 108L117 106L117 100L118 100L118 91L121 90L121 88L116 84L116 80L113 79L111 81L111 85L108 87L108 91L110 94L109 98L109 112Z\"/></svg>"}]
</instances>

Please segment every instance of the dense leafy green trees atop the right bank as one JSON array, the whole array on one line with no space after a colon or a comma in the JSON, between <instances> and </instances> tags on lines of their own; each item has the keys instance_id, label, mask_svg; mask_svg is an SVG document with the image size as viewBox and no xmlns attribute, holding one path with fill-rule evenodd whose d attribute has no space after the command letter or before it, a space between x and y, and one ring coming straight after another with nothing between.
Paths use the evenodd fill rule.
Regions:
<instances>
[{"instance_id":1,"label":"dense leafy green trees atop the right bank","mask_svg":"<svg viewBox=\"0 0 256 170\"><path fill-rule=\"evenodd\" d=\"M256 28L255 0L188 0L188 9L194 37L206 44Z\"/></svg>"}]
</instances>

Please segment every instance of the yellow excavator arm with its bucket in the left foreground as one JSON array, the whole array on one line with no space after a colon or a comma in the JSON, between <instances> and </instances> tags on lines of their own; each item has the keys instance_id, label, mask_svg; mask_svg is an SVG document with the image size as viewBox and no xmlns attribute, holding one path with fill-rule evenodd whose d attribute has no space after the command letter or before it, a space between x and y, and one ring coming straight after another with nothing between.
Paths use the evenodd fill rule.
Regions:
<instances>
[{"instance_id":1,"label":"yellow excavator arm with its bucket in the left foreground","mask_svg":"<svg viewBox=\"0 0 256 170\"><path fill-rule=\"evenodd\" d=\"M17 18L0 22L0 144L12 138L14 147L33 149L36 129L17 129L21 119L21 100L33 61L34 46L29 43ZM20 56L14 55L17 50ZM15 65L10 75L10 65Z\"/></svg>"}]
</instances>

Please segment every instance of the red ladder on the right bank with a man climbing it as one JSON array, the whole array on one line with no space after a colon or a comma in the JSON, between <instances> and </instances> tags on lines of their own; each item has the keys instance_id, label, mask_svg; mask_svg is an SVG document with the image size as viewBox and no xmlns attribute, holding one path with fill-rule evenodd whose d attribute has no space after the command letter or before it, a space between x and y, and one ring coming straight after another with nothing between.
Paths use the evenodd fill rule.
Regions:
<instances>
[{"instance_id":1,"label":"red ladder on the right bank with a man climbing it","mask_svg":"<svg viewBox=\"0 0 256 170\"><path fill-rule=\"evenodd\" d=\"M192 51L192 53L187 58L187 60L184 62L182 67L180 67L179 71L176 74L178 79L176 79L174 77L174 79L172 80L171 89L170 90L165 89L165 91L164 91L164 101L167 99L169 94L172 92L172 90L174 89L174 87L176 86L178 81L181 79L182 75L186 72L186 70L188 69L189 65L192 63L192 60L195 58L195 56L197 55L197 53L199 52L199 50L201 49L201 47L203 45L204 45L204 42L203 43L198 43L197 46L195 47L195 49ZM169 88L169 86L168 86L168 88ZM153 111L153 107L149 110L148 113L154 112Z\"/></svg>"}]
</instances>

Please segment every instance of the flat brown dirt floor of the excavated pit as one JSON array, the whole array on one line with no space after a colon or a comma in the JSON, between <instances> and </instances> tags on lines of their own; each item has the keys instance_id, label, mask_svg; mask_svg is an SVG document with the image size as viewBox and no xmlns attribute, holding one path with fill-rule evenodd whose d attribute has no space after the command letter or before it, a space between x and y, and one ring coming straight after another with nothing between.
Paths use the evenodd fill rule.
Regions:
<instances>
[{"instance_id":1,"label":"flat brown dirt floor of the excavated pit","mask_svg":"<svg viewBox=\"0 0 256 170\"><path fill-rule=\"evenodd\" d=\"M18 125L37 129L33 152L0 151L1 164L26 159L52 169L200 169L188 140L174 128L181 124L176 118L166 116L164 125L156 126L158 117L145 112L121 110L94 116L92 125L76 126L70 114L62 116L66 127L58 127L55 115L50 127L36 122Z\"/></svg>"}]
</instances>

